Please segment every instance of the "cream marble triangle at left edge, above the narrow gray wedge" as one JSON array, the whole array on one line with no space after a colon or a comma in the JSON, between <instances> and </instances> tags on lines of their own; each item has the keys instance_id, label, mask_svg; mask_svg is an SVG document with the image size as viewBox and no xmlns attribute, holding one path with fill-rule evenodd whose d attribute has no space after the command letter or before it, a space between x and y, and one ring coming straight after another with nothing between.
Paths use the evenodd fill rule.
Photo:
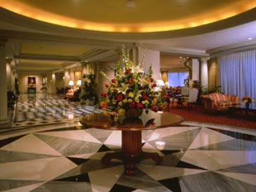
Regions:
<instances>
[{"instance_id":1,"label":"cream marble triangle at left edge, above the narrow gray wedge","mask_svg":"<svg viewBox=\"0 0 256 192\"><path fill-rule=\"evenodd\" d=\"M35 137L33 134L28 134L25 137L21 137L21 139L16 140L15 142L11 142L1 149L6 151L22 151L34 154L50 154L62 156L58 151L48 146L45 142Z\"/></svg>"}]
</instances>

